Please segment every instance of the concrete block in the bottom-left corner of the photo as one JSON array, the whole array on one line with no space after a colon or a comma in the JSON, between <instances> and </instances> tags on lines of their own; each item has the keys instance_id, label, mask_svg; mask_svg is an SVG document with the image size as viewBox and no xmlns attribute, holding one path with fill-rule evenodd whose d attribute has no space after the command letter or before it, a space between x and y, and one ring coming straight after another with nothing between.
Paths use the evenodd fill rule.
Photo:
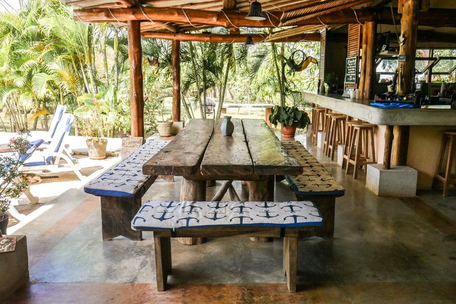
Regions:
<instances>
[{"instance_id":1,"label":"concrete block in the bottom-left corner of the photo","mask_svg":"<svg viewBox=\"0 0 456 304\"><path fill-rule=\"evenodd\" d=\"M28 282L27 238L19 235L16 249L0 253L0 301Z\"/></svg>"}]
</instances>

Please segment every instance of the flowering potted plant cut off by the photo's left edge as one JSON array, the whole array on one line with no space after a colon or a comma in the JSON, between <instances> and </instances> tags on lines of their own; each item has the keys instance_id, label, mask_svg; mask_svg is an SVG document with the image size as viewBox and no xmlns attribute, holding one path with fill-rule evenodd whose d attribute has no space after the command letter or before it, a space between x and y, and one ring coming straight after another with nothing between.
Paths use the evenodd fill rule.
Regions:
<instances>
[{"instance_id":1,"label":"flowering potted plant cut off by the photo's left edge","mask_svg":"<svg viewBox=\"0 0 456 304\"><path fill-rule=\"evenodd\" d=\"M11 200L21 195L23 189L27 188L24 182L24 174L19 170L24 164L20 155L25 155L30 148L25 133L20 132L19 137L11 139L8 145L17 151L15 156L0 157L0 230L1 234L6 234L8 228Z\"/></svg>"}]
</instances>

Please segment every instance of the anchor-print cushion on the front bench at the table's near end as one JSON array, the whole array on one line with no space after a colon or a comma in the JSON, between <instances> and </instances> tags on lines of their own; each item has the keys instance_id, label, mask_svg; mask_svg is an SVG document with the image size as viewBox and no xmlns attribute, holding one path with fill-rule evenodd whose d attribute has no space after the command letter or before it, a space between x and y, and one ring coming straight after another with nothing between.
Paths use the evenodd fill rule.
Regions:
<instances>
[{"instance_id":1,"label":"anchor-print cushion on the front bench at the table's near end","mask_svg":"<svg viewBox=\"0 0 456 304\"><path fill-rule=\"evenodd\" d=\"M323 219L310 201L194 202L147 201L131 227L138 230L210 226L321 226Z\"/></svg>"}]
</instances>

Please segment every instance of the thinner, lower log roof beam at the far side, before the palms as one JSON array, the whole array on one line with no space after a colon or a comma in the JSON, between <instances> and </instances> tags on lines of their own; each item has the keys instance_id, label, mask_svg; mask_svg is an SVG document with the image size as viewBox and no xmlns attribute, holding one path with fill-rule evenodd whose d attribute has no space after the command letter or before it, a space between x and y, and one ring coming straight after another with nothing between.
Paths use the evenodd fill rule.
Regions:
<instances>
[{"instance_id":1,"label":"thinner, lower log roof beam at the far side, before the palms","mask_svg":"<svg viewBox=\"0 0 456 304\"><path fill-rule=\"evenodd\" d=\"M251 36L254 42L262 42L267 37L263 34L193 34L193 33L164 33L164 32L142 32L143 38L156 38L166 40L180 40L180 41L202 41L202 42L242 42L244 43L248 36ZM308 33L300 34L291 37L282 38L280 40L274 40L274 42L296 42L296 41L320 41L319 33Z\"/></svg>"}]
</instances>

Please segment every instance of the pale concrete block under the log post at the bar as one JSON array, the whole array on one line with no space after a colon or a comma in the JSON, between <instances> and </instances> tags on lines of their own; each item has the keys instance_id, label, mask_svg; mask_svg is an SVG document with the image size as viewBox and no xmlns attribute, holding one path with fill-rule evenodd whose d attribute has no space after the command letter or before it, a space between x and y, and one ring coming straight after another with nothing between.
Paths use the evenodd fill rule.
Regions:
<instances>
[{"instance_id":1,"label":"pale concrete block under the log post at the bar","mask_svg":"<svg viewBox=\"0 0 456 304\"><path fill-rule=\"evenodd\" d=\"M386 170L383 164L368 164L366 187L376 195L412 197L416 195L418 171L409 166L392 166Z\"/></svg>"}]
</instances>

